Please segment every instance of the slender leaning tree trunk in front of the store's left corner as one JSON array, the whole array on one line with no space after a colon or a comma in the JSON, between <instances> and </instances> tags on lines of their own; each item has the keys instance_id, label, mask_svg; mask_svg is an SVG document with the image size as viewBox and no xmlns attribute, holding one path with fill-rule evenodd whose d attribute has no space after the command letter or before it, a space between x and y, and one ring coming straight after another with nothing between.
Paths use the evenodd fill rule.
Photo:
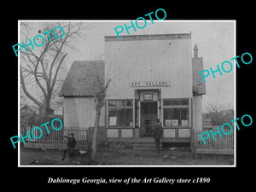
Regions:
<instances>
[{"instance_id":1,"label":"slender leaning tree trunk in front of the store's left corner","mask_svg":"<svg viewBox=\"0 0 256 192\"><path fill-rule=\"evenodd\" d=\"M96 120L93 131L92 143L91 143L91 155L90 155L90 163L96 164L96 150L97 150L97 137L98 137L98 129L100 125L100 117L101 117L101 108L96 109Z\"/></svg>"}]
</instances>

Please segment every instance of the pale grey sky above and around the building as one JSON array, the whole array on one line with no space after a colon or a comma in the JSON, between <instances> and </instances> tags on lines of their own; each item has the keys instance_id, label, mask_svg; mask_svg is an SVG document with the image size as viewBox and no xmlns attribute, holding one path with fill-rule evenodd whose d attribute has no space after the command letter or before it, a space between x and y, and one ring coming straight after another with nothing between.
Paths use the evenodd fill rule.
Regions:
<instances>
[{"instance_id":1,"label":"pale grey sky above and around the building","mask_svg":"<svg viewBox=\"0 0 256 192\"><path fill-rule=\"evenodd\" d=\"M37 35L38 29L49 25L45 21L31 23L32 38ZM73 61L104 60L104 36L116 36L114 28L124 26L124 23L131 26L131 20L84 20L82 37L70 42L73 49L65 49L67 58L63 63L64 70L61 71L60 77L66 77ZM222 62L230 61L236 56L236 23L233 20L154 20L154 24L147 20L147 26L143 29L137 28L134 32L131 28L129 31L130 35L191 32L191 53L194 55L193 48L196 44L198 56L203 57L204 69L208 70L210 67L216 70L217 64L221 67ZM124 30L119 35L128 34ZM222 76L215 73L216 79L213 79L212 75L206 78L207 94L203 96L203 111L210 103L218 103L225 108L234 106L236 64L235 61L230 62L233 64L230 73L223 73ZM229 69L228 66L224 68Z\"/></svg>"}]
</instances>

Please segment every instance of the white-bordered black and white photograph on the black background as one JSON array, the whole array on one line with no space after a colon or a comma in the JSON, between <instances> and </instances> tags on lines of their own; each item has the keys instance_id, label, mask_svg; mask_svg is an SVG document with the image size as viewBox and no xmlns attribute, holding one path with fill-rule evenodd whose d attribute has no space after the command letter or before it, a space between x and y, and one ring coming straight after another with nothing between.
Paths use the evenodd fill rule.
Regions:
<instances>
[{"instance_id":1,"label":"white-bordered black and white photograph on the black background","mask_svg":"<svg viewBox=\"0 0 256 192\"><path fill-rule=\"evenodd\" d=\"M19 20L19 166L236 167L236 20L161 11Z\"/></svg>"}]
</instances>

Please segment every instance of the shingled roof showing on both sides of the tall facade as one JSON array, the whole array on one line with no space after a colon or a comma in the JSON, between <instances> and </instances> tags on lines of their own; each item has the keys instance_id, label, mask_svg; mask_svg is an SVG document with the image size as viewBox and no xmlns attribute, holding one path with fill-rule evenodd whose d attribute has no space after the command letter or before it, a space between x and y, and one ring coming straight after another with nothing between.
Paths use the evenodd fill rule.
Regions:
<instances>
[{"instance_id":1,"label":"shingled roof showing on both sides of the tall facade","mask_svg":"<svg viewBox=\"0 0 256 192\"><path fill-rule=\"evenodd\" d=\"M202 58L193 58L194 95L206 94L206 84L200 74L202 70ZM97 79L104 81L104 61L73 61L59 96L94 96L98 91Z\"/></svg>"}]
</instances>

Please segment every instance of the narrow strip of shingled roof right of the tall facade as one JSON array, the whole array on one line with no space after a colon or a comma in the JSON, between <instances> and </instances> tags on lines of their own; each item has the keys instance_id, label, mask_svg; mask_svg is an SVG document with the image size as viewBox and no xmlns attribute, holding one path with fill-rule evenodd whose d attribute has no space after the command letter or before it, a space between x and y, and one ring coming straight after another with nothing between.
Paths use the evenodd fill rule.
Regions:
<instances>
[{"instance_id":1,"label":"narrow strip of shingled roof right of the tall facade","mask_svg":"<svg viewBox=\"0 0 256 192\"><path fill-rule=\"evenodd\" d=\"M205 95L206 84L201 78L201 71L204 70L202 57L192 58L192 73L193 73L193 94L195 95Z\"/></svg>"}]
</instances>

